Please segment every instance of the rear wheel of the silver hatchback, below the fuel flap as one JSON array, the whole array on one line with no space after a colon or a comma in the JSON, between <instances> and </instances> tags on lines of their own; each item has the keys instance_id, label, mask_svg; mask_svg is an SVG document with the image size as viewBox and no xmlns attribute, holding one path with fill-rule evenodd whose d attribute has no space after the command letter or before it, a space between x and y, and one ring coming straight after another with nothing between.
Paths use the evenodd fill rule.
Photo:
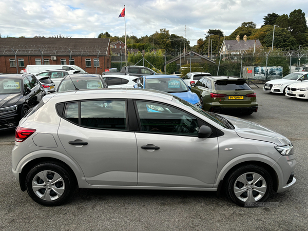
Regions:
<instances>
[{"instance_id":1,"label":"rear wheel of the silver hatchback, below the fuel flap","mask_svg":"<svg viewBox=\"0 0 308 231\"><path fill-rule=\"evenodd\" d=\"M55 183L53 180L56 180ZM35 185L39 189L34 191ZM73 177L62 166L48 162L37 164L28 172L26 187L29 196L36 203L58 206L70 198L75 183Z\"/></svg>"}]
</instances>

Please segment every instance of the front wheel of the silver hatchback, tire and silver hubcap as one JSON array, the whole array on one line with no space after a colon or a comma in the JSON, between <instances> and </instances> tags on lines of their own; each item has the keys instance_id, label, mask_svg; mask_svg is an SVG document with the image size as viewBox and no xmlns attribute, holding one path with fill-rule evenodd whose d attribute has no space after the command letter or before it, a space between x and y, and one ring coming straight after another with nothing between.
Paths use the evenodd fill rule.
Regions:
<instances>
[{"instance_id":1,"label":"front wheel of the silver hatchback, tire and silver hubcap","mask_svg":"<svg viewBox=\"0 0 308 231\"><path fill-rule=\"evenodd\" d=\"M259 180L253 183L256 179ZM254 164L235 169L227 177L225 184L228 198L243 207L245 203L262 203L266 201L273 190L271 175L265 168ZM251 205L249 207L254 207Z\"/></svg>"}]
</instances>

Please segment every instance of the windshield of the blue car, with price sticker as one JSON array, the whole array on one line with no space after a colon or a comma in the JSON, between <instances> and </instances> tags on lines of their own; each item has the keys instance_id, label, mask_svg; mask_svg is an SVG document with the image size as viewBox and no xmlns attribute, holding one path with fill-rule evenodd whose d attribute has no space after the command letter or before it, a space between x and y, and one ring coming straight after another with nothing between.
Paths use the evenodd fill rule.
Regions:
<instances>
[{"instance_id":1,"label":"windshield of the blue car, with price sticker","mask_svg":"<svg viewBox=\"0 0 308 231\"><path fill-rule=\"evenodd\" d=\"M145 88L160 90L168 93L189 91L187 85L180 78L145 79Z\"/></svg>"}]
</instances>

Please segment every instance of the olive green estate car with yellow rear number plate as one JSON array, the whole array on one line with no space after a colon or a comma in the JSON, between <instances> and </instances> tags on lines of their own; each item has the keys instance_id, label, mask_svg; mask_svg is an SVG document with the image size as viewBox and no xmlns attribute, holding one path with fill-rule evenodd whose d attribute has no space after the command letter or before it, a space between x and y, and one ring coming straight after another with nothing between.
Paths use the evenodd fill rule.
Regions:
<instances>
[{"instance_id":1,"label":"olive green estate car with yellow rear number plate","mask_svg":"<svg viewBox=\"0 0 308 231\"><path fill-rule=\"evenodd\" d=\"M244 114L257 112L256 93L245 80L229 76L204 76L191 84L204 110L215 113L237 111Z\"/></svg>"}]
</instances>

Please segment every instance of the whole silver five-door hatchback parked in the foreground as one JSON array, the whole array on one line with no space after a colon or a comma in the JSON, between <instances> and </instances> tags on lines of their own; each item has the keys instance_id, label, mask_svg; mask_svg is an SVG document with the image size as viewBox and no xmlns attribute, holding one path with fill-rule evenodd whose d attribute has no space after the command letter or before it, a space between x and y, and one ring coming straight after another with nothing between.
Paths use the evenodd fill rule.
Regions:
<instances>
[{"instance_id":1,"label":"whole silver five-door hatchback parked in the foreground","mask_svg":"<svg viewBox=\"0 0 308 231\"><path fill-rule=\"evenodd\" d=\"M79 188L225 191L240 206L292 186L290 140L164 92L79 90L46 95L15 131L12 171L37 203Z\"/></svg>"}]
</instances>

